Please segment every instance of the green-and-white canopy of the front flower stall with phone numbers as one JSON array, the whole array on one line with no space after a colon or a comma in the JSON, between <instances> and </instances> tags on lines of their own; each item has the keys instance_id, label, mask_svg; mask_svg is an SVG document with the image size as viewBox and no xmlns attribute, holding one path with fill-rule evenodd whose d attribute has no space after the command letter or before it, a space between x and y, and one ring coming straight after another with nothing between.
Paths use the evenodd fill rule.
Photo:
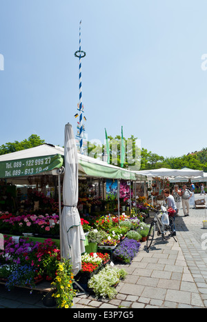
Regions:
<instances>
[{"instance_id":1,"label":"green-and-white canopy of the front flower stall with phone numbers","mask_svg":"<svg viewBox=\"0 0 207 322\"><path fill-rule=\"evenodd\" d=\"M64 149L48 143L0 156L0 178L21 178L38 174L55 174L64 162ZM78 154L79 176L146 181L136 172Z\"/></svg>"}]
</instances>

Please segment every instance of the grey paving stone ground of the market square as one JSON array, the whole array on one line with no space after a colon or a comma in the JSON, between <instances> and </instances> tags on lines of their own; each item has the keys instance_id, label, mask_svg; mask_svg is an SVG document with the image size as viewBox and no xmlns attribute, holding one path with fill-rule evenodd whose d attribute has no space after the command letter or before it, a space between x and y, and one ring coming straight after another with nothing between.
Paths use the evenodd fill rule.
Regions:
<instances>
[{"instance_id":1,"label":"grey paving stone ground of the market square","mask_svg":"<svg viewBox=\"0 0 207 322\"><path fill-rule=\"evenodd\" d=\"M115 263L128 272L117 285L115 299L83 294L75 298L74 308L207 308L207 230L202 226L206 213L190 208L190 216L184 217L179 210L177 243L172 238L161 241L155 235L149 252L146 243L141 243L130 265ZM31 295L22 289L7 292L0 285L0 308L46 308L42 298L35 291Z\"/></svg>"}]
</instances>

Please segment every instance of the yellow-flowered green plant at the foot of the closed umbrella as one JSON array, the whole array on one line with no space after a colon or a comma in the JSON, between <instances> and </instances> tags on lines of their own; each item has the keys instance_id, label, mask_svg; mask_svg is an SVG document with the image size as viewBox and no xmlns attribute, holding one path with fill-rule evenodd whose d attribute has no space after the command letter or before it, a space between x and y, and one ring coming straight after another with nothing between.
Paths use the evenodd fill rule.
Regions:
<instances>
[{"instance_id":1,"label":"yellow-flowered green plant at the foot of the closed umbrella","mask_svg":"<svg viewBox=\"0 0 207 322\"><path fill-rule=\"evenodd\" d=\"M55 281L51 283L53 290L56 290L52 296L55 296L58 308L70 308L72 300L76 293L72 288L74 275L72 274L72 264L70 260L64 260L58 264L57 276Z\"/></svg>"}]
</instances>

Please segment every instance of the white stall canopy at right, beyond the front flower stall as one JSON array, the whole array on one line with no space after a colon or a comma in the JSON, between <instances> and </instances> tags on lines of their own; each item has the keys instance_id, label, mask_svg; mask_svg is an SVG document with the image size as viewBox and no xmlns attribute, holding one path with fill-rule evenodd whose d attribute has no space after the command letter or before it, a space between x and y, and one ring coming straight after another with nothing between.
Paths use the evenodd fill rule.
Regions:
<instances>
[{"instance_id":1,"label":"white stall canopy at right, beyond the front flower stall","mask_svg":"<svg viewBox=\"0 0 207 322\"><path fill-rule=\"evenodd\" d=\"M168 168L160 168L154 170L143 170L137 171L137 174L142 174L147 177L188 177L194 178L197 176L203 177L204 172L201 170L192 170L192 169L168 169Z\"/></svg>"}]
</instances>

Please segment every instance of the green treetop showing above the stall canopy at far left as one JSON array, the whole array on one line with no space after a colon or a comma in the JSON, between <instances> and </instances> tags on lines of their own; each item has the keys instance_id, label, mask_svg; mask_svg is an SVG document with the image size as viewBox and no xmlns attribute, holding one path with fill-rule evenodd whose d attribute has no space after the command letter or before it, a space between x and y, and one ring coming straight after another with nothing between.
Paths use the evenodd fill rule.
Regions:
<instances>
[{"instance_id":1,"label":"green treetop showing above the stall canopy at far left","mask_svg":"<svg viewBox=\"0 0 207 322\"><path fill-rule=\"evenodd\" d=\"M28 139L24 139L23 141L14 141L8 142L0 146L0 155L12 153L20 150L25 150L29 148L34 148L35 146L41 145L45 143L44 140L40 139L37 134L32 134Z\"/></svg>"}]
</instances>

